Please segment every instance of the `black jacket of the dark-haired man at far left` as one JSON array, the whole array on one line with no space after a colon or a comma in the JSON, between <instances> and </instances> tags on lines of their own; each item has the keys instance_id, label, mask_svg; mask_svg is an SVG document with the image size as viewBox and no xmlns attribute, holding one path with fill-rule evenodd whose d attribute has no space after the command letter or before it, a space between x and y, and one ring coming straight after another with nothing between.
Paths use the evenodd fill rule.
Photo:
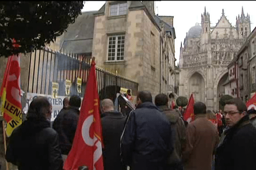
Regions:
<instances>
[{"instance_id":1,"label":"black jacket of the dark-haired man at far left","mask_svg":"<svg viewBox=\"0 0 256 170\"><path fill-rule=\"evenodd\" d=\"M58 133L46 120L26 120L10 136L6 160L19 170L62 170Z\"/></svg>"}]
</instances>

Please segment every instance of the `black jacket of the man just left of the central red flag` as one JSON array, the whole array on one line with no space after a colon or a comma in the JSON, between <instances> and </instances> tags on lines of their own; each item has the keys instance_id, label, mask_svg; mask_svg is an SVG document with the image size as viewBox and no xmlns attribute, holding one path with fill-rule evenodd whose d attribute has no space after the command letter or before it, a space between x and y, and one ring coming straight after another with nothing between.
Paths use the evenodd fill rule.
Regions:
<instances>
[{"instance_id":1,"label":"black jacket of the man just left of the central red flag","mask_svg":"<svg viewBox=\"0 0 256 170\"><path fill-rule=\"evenodd\" d=\"M58 132L61 153L67 155L72 147L79 119L79 108L70 106L55 118L52 128Z\"/></svg>"}]
</instances>

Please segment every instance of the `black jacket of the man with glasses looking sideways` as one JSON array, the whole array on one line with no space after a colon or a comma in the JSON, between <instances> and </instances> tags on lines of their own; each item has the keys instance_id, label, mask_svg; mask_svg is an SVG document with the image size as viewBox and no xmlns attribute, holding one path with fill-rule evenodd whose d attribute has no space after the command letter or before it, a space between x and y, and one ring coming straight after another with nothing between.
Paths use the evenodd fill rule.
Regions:
<instances>
[{"instance_id":1,"label":"black jacket of the man with glasses looking sideways","mask_svg":"<svg viewBox=\"0 0 256 170\"><path fill-rule=\"evenodd\" d=\"M256 129L244 116L226 130L216 150L216 170L256 170Z\"/></svg>"}]
</instances>

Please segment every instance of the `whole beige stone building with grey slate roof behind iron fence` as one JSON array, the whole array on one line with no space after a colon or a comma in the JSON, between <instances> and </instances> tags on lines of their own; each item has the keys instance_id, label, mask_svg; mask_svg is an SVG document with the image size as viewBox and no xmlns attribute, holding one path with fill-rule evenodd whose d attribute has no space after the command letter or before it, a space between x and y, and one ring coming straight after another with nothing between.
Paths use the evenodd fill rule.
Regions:
<instances>
[{"instance_id":1,"label":"whole beige stone building with grey slate roof behind iron fence","mask_svg":"<svg viewBox=\"0 0 256 170\"><path fill-rule=\"evenodd\" d=\"M95 57L96 65L139 83L139 90L174 92L172 16L154 13L154 1L106 1L82 13L59 39L61 51Z\"/></svg>"}]
</instances>

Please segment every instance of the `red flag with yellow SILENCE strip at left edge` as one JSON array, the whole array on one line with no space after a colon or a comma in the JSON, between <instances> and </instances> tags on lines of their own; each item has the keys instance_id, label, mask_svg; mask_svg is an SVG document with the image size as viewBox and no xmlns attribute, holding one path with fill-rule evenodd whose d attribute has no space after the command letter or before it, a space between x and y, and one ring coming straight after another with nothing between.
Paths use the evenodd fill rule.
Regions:
<instances>
[{"instance_id":1,"label":"red flag with yellow SILENCE strip at left edge","mask_svg":"<svg viewBox=\"0 0 256 170\"><path fill-rule=\"evenodd\" d=\"M6 135L22 123L20 89L20 54L8 58L3 83L0 90L1 113L7 122Z\"/></svg>"}]
</instances>

